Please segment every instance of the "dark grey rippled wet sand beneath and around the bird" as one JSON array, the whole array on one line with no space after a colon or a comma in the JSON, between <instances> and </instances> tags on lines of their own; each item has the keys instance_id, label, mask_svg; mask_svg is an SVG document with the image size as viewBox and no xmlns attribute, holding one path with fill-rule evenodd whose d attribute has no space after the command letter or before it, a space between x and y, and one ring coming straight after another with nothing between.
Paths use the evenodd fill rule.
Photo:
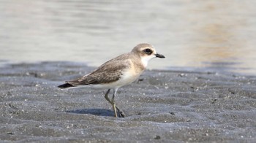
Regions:
<instances>
[{"instance_id":1,"label":"dark grey rippled wet sand beneath and around the bird","mask_svg":"<svg viewBox=\"0 0 256 143\"><path fill-rule=\"evenodd\" d=\"M83 63L0 68L1 142L255 142L256 77L200 71L146 71L118 90L125 118L106 90L60 90L92 71Z\"/></svg>"}]
</instances>

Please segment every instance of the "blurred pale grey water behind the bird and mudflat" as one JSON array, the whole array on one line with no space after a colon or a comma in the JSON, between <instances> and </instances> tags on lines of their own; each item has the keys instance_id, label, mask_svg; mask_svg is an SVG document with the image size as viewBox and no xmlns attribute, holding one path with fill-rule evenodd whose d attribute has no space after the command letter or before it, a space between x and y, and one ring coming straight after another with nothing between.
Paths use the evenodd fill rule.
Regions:
<instances>
[{"instance_id":1,"label":"blurred pale grey water behind the bird and mudflat","mask_svg":"<svg viewBox=\"0 0 256 143\"><path fill-rule=\"evenodd\" d=\"M148 42L149 69L256 74L254 0L1 0L0 60L100 64Z\"/></svg>"}]
</instances>

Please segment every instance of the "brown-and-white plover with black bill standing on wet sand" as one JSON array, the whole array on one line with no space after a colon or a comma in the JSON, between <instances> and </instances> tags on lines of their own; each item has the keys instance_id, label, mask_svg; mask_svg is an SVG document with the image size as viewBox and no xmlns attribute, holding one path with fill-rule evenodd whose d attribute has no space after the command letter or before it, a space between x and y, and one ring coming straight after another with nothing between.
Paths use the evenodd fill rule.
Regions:
<instances>
[{"instance_id":1,"label":"brown-and-white plover with black bill standing on wet sand","mask_svg":"<svg viewBox=\"0 0 256 143\"><path fill-rule=\"evenodd\" d=\"M112 105L115 117L124 117L124 112L116 106L115 96L118 88L135 81L148 66L152 58L165 58L157 53L150 44L139 44L131 52L119 55L103 63L97 69L76 80L66 81L59 88L94 88L108 89L105 93L106 100ZM110 99L108 93L113 89L113 96ZM118 115L117 115L118 112Z\"/></svg>"}]
</instances>

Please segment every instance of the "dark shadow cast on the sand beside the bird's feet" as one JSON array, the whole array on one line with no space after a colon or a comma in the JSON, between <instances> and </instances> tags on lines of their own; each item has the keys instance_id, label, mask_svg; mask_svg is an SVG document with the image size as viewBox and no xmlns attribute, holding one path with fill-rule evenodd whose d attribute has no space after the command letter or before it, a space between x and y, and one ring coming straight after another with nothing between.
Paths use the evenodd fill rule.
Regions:
<instances>
[{"instance_id":1,"label":"dark shadow cast on the sand beside the bird's feet","mask_svg":"<svg viewBox=\"0 0 256 143\"><path fill-rule=\"evenodd\" d=\"M110 109L74 109L68 110L66 112L75 113L75 114L90 114L90 115L97 115L97 116L110 116L113 117L113 111Z\"/></svg>"}]
</instances>

